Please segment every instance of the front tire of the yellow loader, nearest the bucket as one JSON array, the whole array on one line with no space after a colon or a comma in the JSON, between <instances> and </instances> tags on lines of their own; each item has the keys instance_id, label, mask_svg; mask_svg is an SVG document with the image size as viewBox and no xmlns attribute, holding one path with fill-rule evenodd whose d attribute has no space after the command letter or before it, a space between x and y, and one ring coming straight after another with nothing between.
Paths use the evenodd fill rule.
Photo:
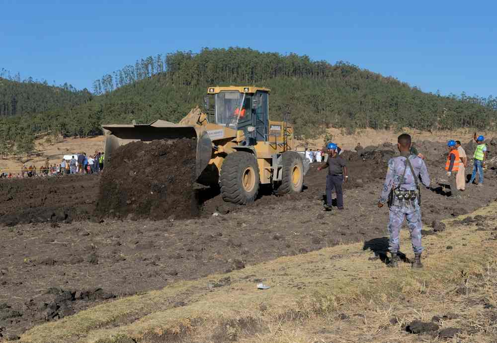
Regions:
<instances>
[{"instance_id":1,"label":"front tire of the yellow loader, nearest the bucket","mask_svg":"<svg viewBox=\"0 0 497 343\"><path fill-rule=\"evenodd\" d=\"M237 151L226 156L219 176L224 201L245 205L255 200L259 190L259 168L255 156Z\"/></svg>"}]
</instances>

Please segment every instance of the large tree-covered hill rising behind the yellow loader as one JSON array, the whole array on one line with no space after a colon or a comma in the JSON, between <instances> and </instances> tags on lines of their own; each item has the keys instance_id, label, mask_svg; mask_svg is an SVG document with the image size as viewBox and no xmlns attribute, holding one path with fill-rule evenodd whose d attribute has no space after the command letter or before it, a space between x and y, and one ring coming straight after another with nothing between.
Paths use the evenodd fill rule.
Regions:
<instances>
[{"instance_id":1,"label":"large tree-covered hill rising behind the yellow loader","mask_svg":"<svg viewBox=\"0 0 497 343\"><path fill-rule=\"evenodd\" d=\"M349 131L406 126L424 130L489 128L495 125L497 114L496 98L424 93L344 62L332 65L307 56L245 48L203 49L197 54L148 57L105 75L94 82L97 96L79 106L3 119L0 142L47 131L94 135L101 133L102 123L130 123L133 119L138 123L159 118L178 121L203 103L206 89L212 85L271 88L270 117L282 119L289 112L297 135L306 137L321 134L330 126Z\"/></svg>"}]
</instances>

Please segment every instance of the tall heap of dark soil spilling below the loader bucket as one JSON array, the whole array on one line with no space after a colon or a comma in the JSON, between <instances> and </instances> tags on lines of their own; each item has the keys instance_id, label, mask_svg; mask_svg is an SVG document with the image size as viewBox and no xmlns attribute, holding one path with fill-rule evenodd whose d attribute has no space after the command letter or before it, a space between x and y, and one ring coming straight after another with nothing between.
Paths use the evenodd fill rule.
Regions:
<instances>
[{"instance_id":1,"label":"tall heap of dark soil spilling below the loader bucket","mask_svg":"<svg viewBox=\"0 0 497 343\"><path fill-rule=\"evenodd\" d=\"M199 214L193 191L196 142L134 142L119 147L102 173L96 213L128 219L184 219Z\"/></svg>"}]
</instances>

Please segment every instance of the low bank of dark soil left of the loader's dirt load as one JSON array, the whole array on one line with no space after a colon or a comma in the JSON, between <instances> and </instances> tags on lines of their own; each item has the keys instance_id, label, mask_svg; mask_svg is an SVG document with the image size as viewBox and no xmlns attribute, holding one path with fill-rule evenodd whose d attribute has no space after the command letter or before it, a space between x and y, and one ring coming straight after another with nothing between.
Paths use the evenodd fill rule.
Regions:
<instances>
[{"instance_id":1,"label":"low bank of dark soil left of the loader's dirt load","mask_svg":"<svg viewBox=\"0 0 497 343\"><path fill-rule=\"evenodd\" d=\"M0 181L0 224L91 219L98 178L92 175L31 177Z\"/></svg>"}]
</instances>

